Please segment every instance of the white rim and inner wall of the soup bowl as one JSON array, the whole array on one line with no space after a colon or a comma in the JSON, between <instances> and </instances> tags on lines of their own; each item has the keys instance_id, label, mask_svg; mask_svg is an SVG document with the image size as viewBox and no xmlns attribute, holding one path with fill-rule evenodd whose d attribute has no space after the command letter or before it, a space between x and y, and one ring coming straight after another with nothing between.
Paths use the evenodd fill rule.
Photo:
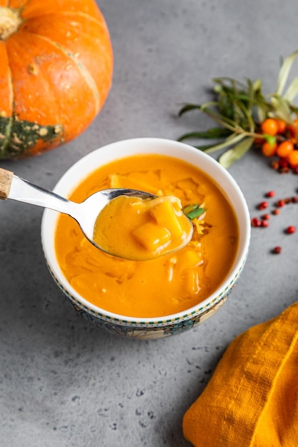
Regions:
<instances>
[{"instance_id":1,"label":"white rim and inner wall of the soup bowl","mask_svg":"<svg viewBox=\"0 0 298 447\"><path fill-rule=\"evenodd\" d=\"M197 306L187 309L187 311L169 316L159 316L154 318L135 318L130 316L120 316L116 313L111 313L97 306L94 306L93 304L89 303L89 301L86 301L84 297L80 296L79 293L77 293L74 288L69 285L59 267L54 249L54 233L56 230L56 222L59 214L56 211L52 211L49 209L46 209L44 211L41 223L41 241L44 249L44 256L51 270L51 273L55 276L56 280L61 284L61 286L66 291L68 291L71 296L75 298L76 301L79 301L79 303L81 303L84 308L89 308L95 313L101 313L111 318L129 318L130 321L136 322L154 322L160 321L161 318L163 320L168 318L181 318L185 315L185 313L192 313L197 308L202 308L204 306L207 306L208 303L212 303L214 301L214 298L219 296L219 293L229 288L231 282L233 281L233 278L235 278L239 271L241 271L247 257L250 240L250 218L247 203L236 181L234 181L229 172L221 165L219 165L217 161L212 159L211 156L204 154L204 152L202 151L194 149L192 146L180 143L178 141L155 138L140 138L118 141L116 143L112 143L102 148L96 149L90 154L84 156L84 158L77 161L76 164L71 166L71 168L66 171L66 173L56 184L54 192L56 192L56 194L59 194L60 196L68 197L71 192L76 189L76 186L78 186L81 181L86 179L86 176L91 174L94 169L97 169L99 166L107 164L110 161L114 161L115 159L120 159L134 154L162 154L176 157L178 159L183 159L189 164L193 164L199 169L202 169L202 171L205 171L209 176L211 176L229 198L229 201L232 204L238 219L240 233L239 248L234 261L234 265L232 266L229 275L227 276L227 278L225 278L224 282L219 286L219 288L217 288L217 290L214 291L214 293L212 293L209 298L198 303Z\"/></svg>"}]
</instances>

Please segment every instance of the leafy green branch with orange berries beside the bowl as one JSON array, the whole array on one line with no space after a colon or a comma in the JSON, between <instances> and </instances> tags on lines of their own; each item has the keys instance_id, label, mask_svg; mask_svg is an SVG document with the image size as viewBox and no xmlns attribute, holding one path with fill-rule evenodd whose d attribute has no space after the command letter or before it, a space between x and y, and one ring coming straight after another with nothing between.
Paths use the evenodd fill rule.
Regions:
<instances>
[{"instance_id":1,"label":"leafy green branch with orange berries beside the bowl","mask_svg":"<svg viewBox=\"0 0 298 447\"><path fill-rule=\"evenodd\" d=\"M298 76L287 86L297 56L298 50L282 62L273 94L263 94L259 79L254 82L247 79L246 83L229 77L214 79L216 101L202 105L184 104L179 116L199 110L218 126L184 134L179 141L213 141L195 146L207 153L227 149L219 156L219 163L225 168L244 156L252 146L259 146L264 156L274 157L274 169L280 172L292 169L298 174L298 108L292 104L298 94Z\"/></svg>"}]
</instances>

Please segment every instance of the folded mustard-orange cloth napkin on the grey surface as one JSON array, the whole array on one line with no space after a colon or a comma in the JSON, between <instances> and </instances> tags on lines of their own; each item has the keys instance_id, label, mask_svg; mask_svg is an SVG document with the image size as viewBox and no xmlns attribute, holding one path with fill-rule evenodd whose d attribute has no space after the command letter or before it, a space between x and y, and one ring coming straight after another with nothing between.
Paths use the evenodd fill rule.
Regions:
<instances>
[{"instance_id":1,"label":"folded mustard-orange cloth napkin on the grey surface","mask_svg":"<svg viewBox=\"0 0 298 447\"><path fill-rule=\"evenodd\" d=\"M298 447L298 302L232 341L184 415L196 447Z\"/></svg>"}]
</instances>

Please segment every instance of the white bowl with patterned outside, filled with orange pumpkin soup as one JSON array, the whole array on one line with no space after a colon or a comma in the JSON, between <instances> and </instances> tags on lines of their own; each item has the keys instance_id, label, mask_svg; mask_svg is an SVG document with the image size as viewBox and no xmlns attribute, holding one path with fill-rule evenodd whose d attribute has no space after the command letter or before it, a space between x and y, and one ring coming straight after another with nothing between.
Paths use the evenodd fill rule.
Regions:
<instances>
[{"instance_id":1,"label":"white bowl with patterned outside, filled with orange pumpkin soup","mask_svg":"<svg viewBox=\"0 0 298 447\"><path fill-rule=\"evenodd\" d=\"M80 203L96 191L114 188L177 198L191 221L191 240L164 256L124 259L87 241L71 217L46 209L41 242L52 278L81 316L119 336L162 338L194 328L227 301L247 259L250 218L237 182L192 146L139 138L84 156L54 192ZM117 212L111 217L118 228L131 219L131 234L146 236L144 246L151 249L159 240L156 221L172 225L171 213L162 206L141 229L132 217ZM118 232L111 235L116 238Z\"/></svg>"}]
</instances>

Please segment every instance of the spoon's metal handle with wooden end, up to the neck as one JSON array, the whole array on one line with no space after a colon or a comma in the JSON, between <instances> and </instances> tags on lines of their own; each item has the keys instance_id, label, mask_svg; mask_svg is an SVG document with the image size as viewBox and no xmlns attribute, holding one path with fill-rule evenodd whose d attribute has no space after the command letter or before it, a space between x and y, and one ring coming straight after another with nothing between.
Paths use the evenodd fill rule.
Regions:
<instances>
[{"instance_id":1,"label":"spoon's metal handle with wooden end, up to the neck","mask_svg":"<svg viewBox=\"0 0 298 447\"><path fill-rule=\"evenodd\" d=\"M54 209L64 214L75 214L77 204L52 191L31 184L15 176L13 172L0 168L0 199L13 199L26 204Z\"/></svg>"}]
</instances>

